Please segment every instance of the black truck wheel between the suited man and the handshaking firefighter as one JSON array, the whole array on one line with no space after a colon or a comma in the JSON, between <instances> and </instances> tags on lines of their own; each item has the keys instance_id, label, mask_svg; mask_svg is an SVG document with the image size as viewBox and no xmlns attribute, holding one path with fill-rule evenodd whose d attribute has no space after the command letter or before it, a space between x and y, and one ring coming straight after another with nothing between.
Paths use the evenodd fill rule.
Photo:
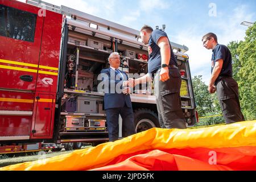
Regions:
<instances>
[{"instance_id":1,"label":"black truck wheel between the suited man and the handshaking firefighter","mask_svg":"<svg viewBox=\"0 0 256 182\"><path fill-rule=\"evenodd\" d=\"M134 111L134 127L136 133L160 127L158 115L149 109L137 109Z\"/></svg>"}]
</instances>

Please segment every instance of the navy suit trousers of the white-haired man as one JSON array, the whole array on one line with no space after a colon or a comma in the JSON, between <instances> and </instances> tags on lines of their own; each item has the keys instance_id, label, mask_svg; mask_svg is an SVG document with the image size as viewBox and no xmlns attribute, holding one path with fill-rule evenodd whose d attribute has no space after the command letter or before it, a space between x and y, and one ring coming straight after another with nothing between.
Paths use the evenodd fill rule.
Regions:
<instances>
[{"instance_id":1,"label":"navy suit trousers of the white-haired man","mask_svg":"<svg viewBox=\"0 0 256 182\"><path fill-rule=\"evenodd\" d=\"M109 142L118 140L119 114L122 117L122 137L128 137L135 134L133 109L127 107L126 105L121 108L106 109Z\"/></svg>"}]
</instances>

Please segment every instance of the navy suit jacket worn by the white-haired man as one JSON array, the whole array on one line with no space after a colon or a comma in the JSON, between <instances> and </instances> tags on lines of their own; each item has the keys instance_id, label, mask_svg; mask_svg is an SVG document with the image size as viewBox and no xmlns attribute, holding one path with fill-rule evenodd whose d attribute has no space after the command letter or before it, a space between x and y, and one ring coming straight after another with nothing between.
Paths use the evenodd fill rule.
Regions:
<instances>
[{"instance_id":1,"label":"navy suit jacket worn by the white-haired man","mask_svg":"<svg viewBox=\"0 0 256 182\"><path fill-rule=\"evenodd\" d=\"M122 73L123 77L121 76ZM124 107L131 108L130 94L125 95L122 93L123 82L128 80L128 76L123 71L114 71L112 68L102 69L101 73L104 73L102 80L104 81L104 108L113 109ZM117 89L115 89L117 88Z\"/></svg>"}]
</instances>

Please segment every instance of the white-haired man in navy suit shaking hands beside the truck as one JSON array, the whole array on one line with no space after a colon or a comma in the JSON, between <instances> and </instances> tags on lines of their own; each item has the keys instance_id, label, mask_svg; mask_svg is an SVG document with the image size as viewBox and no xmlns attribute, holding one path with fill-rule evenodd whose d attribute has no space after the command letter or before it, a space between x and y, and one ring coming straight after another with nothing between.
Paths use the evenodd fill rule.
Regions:
<instances>
[{"instance_id":1,"label":"white-haired man in navy suit shaking hands beside the truck","mask_svg":"<svg viewBox=\"0 0 256 182\"><path fill-rule=\"evenodd\" d=\"M118 69L120 57L118 52L109 56L110 68L103 69L101 76L104 80L104 107L109 131L109 141L118 140L118 119L122 117L122 137L135 134L133 108L130 98L130 87L134 87L133 80L128 80L125 72Z\"/></svg>"}]
</instances>

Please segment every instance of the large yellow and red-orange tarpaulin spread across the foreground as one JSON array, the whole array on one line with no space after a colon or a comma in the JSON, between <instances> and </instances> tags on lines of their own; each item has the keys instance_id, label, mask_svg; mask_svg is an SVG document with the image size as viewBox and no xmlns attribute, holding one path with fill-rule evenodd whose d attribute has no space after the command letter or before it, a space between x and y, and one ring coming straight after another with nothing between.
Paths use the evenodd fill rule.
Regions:
<instances>
[{"instance_id":1,"label":"large yellow and red-orange tarpaulin spread across the foreground","mask_svg":"<svg viewBox=\"0 0 256 182\"><path fill-rule=\"evenodd\" d=\"M256 170L256 121L186 130L155 128L0 170Z\"/></svg>"}]
</instances>

